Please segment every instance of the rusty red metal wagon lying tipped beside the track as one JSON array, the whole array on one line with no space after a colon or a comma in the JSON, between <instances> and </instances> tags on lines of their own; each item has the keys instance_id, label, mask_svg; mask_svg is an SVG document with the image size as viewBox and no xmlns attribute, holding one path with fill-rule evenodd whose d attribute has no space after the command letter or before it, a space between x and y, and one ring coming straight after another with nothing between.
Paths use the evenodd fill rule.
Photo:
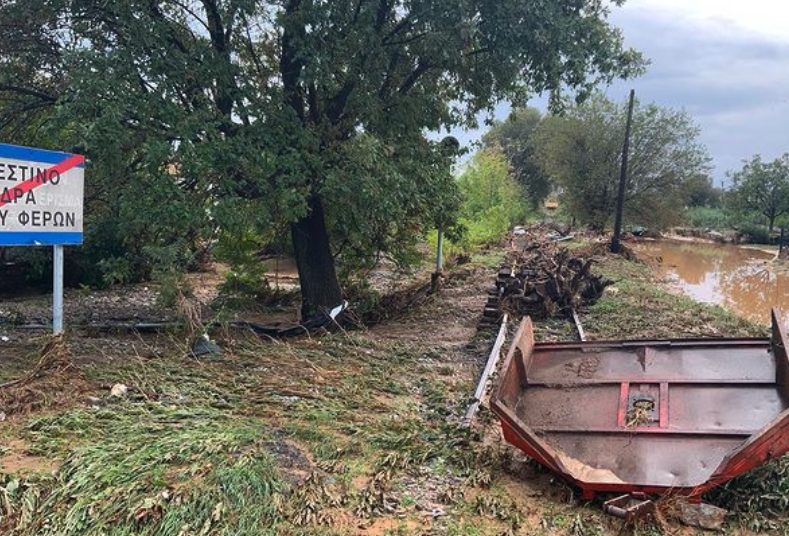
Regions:
<instances>
[{"instance_id":1,"label":"rusty red metal wagon lying tipped beside the track","mask_svg":"<svg viewBox=\"0 0 789 536\"><path fill-rule=\"evenodd\" d=\"M535 343L525 318L491 407L505 439L596 492L710 488L789 451L789 358L771 339Z\"/></svg>"}]
</instances>

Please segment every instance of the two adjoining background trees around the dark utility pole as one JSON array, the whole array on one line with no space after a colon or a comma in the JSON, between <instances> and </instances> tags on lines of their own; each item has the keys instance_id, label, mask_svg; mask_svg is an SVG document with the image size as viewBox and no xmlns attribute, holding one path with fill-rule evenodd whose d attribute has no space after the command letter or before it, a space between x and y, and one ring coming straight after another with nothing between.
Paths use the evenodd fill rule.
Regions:
<instances>
[{"instance_id":1,"label":"two adjoining background trees around the dark utility pole","mask_svg":"<svg viewBox=\"0 0 789 536\"><path fill-rule=\"evenodd\" d=\"M625 112L624 103L601 94L560 114L517 109L484 136L484 152L498 151L507 159L532 207L553 194L565 218L602 231L614 218ZM699 133L684 111L637 103L627 222L663 229L680 223L687 207L719 202Z\"/></svg>"}]
</instances>

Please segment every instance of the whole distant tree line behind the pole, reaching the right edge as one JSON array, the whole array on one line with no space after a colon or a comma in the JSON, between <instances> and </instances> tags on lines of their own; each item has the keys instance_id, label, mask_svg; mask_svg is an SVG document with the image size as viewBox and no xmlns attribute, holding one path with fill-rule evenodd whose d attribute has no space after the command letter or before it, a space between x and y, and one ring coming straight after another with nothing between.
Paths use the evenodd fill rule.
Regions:
<instances>
[{"instance_id":1,"label":"whole distant tree line behind the pole, reaching the right edge","mask_svg":"<svg viewBox=\"0 0 789 536\"><path fill-rule=\"evenodd\" d=\"M514 109L484 135L469 173L480 181L483 164L502 158L532 213L554 197L564 219L610 229L625 113L625 103L602 94L562 113ZM769 241L778 225L789 225L789 153L772 161L759 155L745 161L729 173L724 191L713 185L711 160L699 135L684 111L637 102L625 221L656 230L680 224L734 229L758 241ZM492 182L501 181L493 175Z\"/></svg>"}]
</instances>

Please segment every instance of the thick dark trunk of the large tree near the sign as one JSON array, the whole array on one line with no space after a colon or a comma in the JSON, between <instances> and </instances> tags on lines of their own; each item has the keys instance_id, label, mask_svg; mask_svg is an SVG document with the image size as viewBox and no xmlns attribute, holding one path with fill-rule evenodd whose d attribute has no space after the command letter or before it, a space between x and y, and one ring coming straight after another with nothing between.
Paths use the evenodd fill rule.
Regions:
<instances>
[{"instance_id":1,"label":"thick dark trunk of the large tree near the sign","mask_svg":"<svg viewBox=\"0 0 789 536\"><path fill-rule=\"evenodd\" d=\"M342 289L329 248L323 203L313 196L309 212L291 224L293 252L301 284L301 319L305 321L342 303Z\"/></svg>"}]
</instances>

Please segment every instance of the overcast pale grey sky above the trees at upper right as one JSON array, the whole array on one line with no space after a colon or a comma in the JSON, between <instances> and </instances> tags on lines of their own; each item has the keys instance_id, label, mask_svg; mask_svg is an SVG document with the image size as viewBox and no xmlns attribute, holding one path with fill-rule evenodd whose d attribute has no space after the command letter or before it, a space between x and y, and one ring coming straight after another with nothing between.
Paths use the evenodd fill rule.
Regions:
<instances>
[{"instance_id":1,"label":"overcast pale grey sky above the trees at upper right","mask_svg":"<svg viewBox=\"0 0 789 536\"><path fill-rule=\"evenodd\" d=\"M789 152L789 2L629 0L613 8L611 21L652 64L607 93L624 101L632 87L643 102L690 113L713 157L716 184L754 154ZM499 115L506 114L502 107Z\"/></svg>"}]
</instances>

